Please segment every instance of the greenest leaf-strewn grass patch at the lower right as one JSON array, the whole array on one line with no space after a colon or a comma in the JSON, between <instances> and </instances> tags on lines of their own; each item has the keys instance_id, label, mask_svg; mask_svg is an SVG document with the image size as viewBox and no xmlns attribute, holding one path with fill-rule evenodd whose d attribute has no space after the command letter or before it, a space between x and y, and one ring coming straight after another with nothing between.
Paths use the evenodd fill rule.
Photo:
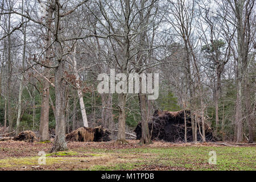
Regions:
<instances>
[{"instance_id":1,"label":"greenest leaf-strewn grass patch at the lower right","mask_svg":"<svg viewBox=\"0 0 256 182\"><path fill-rule=\"evenodd\" d=\"M209 152L215 151L217 164L209 164ZM155 154L148 164L185 167L192 170L255 170L255 147L186 146L169 148L129 148L123 154Z\"/></svg>"}]
</instances>

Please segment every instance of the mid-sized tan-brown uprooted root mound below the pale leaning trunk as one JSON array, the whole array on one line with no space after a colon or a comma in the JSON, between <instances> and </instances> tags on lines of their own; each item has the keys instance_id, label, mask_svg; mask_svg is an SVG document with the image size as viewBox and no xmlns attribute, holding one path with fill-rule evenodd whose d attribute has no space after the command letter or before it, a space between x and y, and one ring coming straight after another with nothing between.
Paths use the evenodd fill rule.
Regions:
<instances>
[{"instance_id":1,"label":"mid-sized tan-brown uprooted root mound below the pale leaning trunk","mask_svg":"<svg viewBox=\"0 0 256 182\"><path fill-rule=\"evenodd\" d=\"M76 142L106 142L110 140L110 131L102 126L90 128L80 127L67 134L66 140Z\"/></svg>"}]
</instances>

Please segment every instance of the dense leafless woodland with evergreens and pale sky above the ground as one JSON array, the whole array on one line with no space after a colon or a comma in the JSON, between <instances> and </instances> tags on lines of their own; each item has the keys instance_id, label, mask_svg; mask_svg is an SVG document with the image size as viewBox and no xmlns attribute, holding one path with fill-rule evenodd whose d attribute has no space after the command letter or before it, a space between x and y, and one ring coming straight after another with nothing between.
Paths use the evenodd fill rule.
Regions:
<instances>
[{"instance_id":1,"label":"dense leafless woodland with evergreens and pale sky above the ground","mask_svg":"<svg viewBox=\"0 0 256 182\"><path fill-rule=\"evenodd\" d=\"M0 125L125 139L156 109L190 109L219 140L255 140L255 1L1 0ZM99 94L100 73L159 73L159 98ZM200 115L200 117L198 117ZM202 133L204 128L202 128ZM194 131L194 130L193 130ZM195 131L194 131L195 133ZM185 139L184 139L185 140Z\"/></svg>"}]
</instances>

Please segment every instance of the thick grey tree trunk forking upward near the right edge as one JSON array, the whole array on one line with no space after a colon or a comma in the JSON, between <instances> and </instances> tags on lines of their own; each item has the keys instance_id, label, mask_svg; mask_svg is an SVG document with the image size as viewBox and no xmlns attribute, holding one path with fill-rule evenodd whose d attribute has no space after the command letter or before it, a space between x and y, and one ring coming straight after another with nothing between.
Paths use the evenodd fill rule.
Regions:
<instances>
[{"instance_id":1,"label":"thick grey tree trunk forking upward near the right edge","mask_svg":"<svg viewBox=\"0 0 256 182\"><path fill-rule=\"evenodd\" d=\"M236 16L236 30L237 30L237 110L236 110L236 123L237 123L237 143L243 140L243 113L242 113L242 100L247 95L246 86L242 86L244 78L247 76L249 46L251 43L251 15L254 11L254 1L228 0L234 15ZM246 99L245 99L246 101ZM249 105L247 105L249 107ZM245 106L246 107L246 106ZM248 108L246 108L248 109Z\"/></svg>"}]
</instances>

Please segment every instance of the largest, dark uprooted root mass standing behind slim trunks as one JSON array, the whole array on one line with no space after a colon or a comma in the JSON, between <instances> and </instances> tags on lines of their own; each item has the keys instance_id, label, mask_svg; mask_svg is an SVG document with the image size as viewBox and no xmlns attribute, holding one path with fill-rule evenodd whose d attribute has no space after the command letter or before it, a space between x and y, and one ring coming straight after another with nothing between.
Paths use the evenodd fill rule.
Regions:
<instances>
[{"instance_id":1,"label":"largest, dark uprooted root mass standing behind slim trunks","mask_svg":"<svg viewBox=\"0 0 256 182\"><path fill-rule=\"evenodd\" d=\"M192 127L191 127L191 112L185 110L186 113L186 126L187 126L187 142L193 142ZM148 122L152 140L164 140L167 142L184 142L185 141L185 122L184 110L180 111L159 111L156 110L152 121ZM200 131L202 126L200 123ZM141 123L139 123L134 130L137 139L141 139ZM212 129L205 123L205 139L213 141L214 137ZM197 140L203 140L199 133L197 125Z\"/></svg>"}]
</instances>

